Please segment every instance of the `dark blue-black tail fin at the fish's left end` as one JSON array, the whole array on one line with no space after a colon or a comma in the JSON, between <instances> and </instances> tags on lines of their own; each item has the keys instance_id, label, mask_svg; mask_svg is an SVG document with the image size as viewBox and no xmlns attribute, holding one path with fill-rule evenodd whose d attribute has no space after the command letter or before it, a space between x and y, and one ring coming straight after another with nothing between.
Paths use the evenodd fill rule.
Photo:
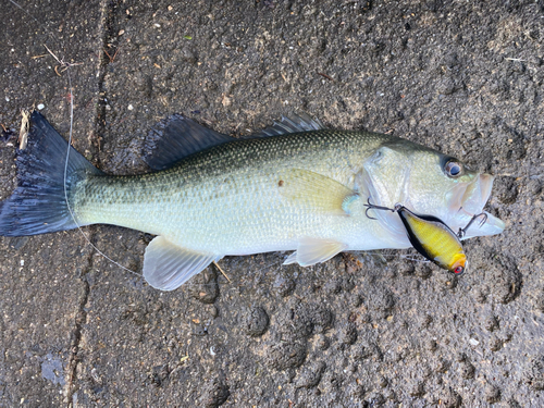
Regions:
<instances>
[{"instance_id":1,"label":"dark blue-black tail fin at the fish's left end","mask_svg":"<svg viewBox=\"0 0 544 408\"><path fill-rule=\"evenodd\" d=\"M21 236L77 227L64 196L67 141L37 111L30 116L28 145L17 153L17 185L0 202L0 235ZM87 174L101 174L70 148L66 191Z\"/></svg>"}]
</instances>

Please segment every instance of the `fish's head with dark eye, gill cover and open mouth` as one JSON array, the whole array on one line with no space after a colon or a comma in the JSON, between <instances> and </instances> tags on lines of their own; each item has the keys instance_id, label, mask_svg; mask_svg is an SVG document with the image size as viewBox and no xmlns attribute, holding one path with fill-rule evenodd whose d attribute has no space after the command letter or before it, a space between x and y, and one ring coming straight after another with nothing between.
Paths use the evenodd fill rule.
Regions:
<instances>
[{"instance_id":1,"label":"fish's head with dark eye, gill cover and open mouth","mask_svg":"<svg viewBox=\"0 0 544 408\"><path fill-rule=\"evenodd\" d=\"M505 224L484 212L494 177L471 170L462 161L408 140L382 145L363 164L362 191L372 203L394 208L400 203L419 214L441 219L452 231L465 228L484 213L485 222L473 222L465 238L499 234ZM390 211L374 211L379 220L399 234L401 225Z\"/></svg>"}]
</instances>

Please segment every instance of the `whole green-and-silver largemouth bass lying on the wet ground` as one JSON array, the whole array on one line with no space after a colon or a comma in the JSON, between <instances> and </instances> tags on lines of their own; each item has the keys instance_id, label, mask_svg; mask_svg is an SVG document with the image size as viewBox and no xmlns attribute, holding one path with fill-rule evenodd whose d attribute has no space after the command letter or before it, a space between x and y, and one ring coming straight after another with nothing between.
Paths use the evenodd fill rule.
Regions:
<instances>
[{"instance_id":1,"label":"whole green-and-silver largemouth bass lying on the wet ground","mask_svg":"<svg viewBox=\"0 0 544 408\"><path fill-rule=\"evenodd\" d=\"M108 175L33 112L17 187L0 202L0 235L91 224L143 231L156 235L145 280L173 290L225 256L294 250L285 263L308 267L343 251L410 248L398 217L367 217L368 199L403 202L455 231L482 212L494 178L410 140L330 129L307 114L244 138L175 114L150 135L143 153L150 172ZM504 230L485 214L463 239Z\"/></svg>"}]
</instances>

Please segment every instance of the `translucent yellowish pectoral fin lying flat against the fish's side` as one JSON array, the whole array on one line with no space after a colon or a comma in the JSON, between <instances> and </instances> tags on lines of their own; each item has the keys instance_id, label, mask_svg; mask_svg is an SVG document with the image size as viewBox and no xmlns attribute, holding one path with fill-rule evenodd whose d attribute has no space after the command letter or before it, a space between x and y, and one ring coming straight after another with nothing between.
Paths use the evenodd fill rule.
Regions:
<instances>
[{"instance_id":1,"label":"translucent yellowish pectoral fin lying flat against the fish's side","mask_svg":"<svg viewBox=\"0 0 544 408\"><path fill-rule=\"evenodd\" d=\"M297 206L320 213L349 214L349 203L359 197L353 189L324 175L300 169L287 170L277 181L280 194Z\"/></svg>"}]
</instances>

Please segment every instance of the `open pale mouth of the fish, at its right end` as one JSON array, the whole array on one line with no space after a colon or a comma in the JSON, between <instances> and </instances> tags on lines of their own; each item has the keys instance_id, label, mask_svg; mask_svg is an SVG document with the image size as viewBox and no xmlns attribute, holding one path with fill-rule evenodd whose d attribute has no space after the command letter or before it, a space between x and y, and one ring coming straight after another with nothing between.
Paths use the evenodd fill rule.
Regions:
<instances>
[{"instance_id":1,"label":"open pale mouth of the fish, at its right end","mask_svg":"<svg viewBox=\"0 0 544 408\"><path fill-rule=\"evenodd\" d=\"M459 185L454 188L453 197L458 199L453 200L450 205L450 213L454 214L449 225L454 231L465 228L474 215L485 214L483 223L473 222L467 231L465 231L463 239L473 236L495 235L500 234L505 228L505 223L495 215L483 211L483 208L491 196L494 176L491 174L480 174L468 186Z\"/></svg>"}]
</instances>

